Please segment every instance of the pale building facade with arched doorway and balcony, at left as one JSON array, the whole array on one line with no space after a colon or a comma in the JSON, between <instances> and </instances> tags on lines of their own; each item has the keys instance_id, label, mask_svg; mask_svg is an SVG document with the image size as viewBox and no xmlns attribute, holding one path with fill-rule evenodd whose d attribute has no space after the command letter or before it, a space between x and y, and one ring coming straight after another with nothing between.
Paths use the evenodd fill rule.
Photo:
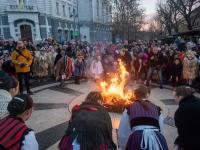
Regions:
<instances>
[{"instance_id":1,"label":"pale building facade with arched doorway and balcony, at left","mask_svg":"<svg viewBox=\"0 0 200 150\"><path fill-rule=\"evenodd\" d=\"M76 0L1 0L0 34L5 39L71 40L78 32Z\"/></svg>"}]
</instances>

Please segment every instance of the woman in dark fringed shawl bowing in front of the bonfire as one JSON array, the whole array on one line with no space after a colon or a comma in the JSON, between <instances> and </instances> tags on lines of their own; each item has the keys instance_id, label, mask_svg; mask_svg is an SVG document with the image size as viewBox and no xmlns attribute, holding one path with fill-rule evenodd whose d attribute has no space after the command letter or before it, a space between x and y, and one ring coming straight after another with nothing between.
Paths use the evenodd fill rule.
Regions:
<instances>
[{"instance_id":1,"label":"woman in dark fringed shawl bowing in front of the bonfire","mask_svg":"<svg viewBox=\"0 0 200 150\"><path fill-rule=\"evenodd\" d=\"M72 109L60 150L116 150L112 140L112 122L102 106L99 92L90 92L81 105Z\"/></svg>"}]
</instances>

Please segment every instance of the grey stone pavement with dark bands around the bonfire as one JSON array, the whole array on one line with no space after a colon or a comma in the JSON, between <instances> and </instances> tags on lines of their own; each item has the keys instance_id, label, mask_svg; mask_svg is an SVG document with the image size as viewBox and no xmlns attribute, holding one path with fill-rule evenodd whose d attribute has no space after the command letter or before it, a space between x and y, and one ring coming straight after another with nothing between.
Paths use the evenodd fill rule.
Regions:
<instances>
[{"instance_id":1,"label":"grey stone pavement with dark bands around the bonfire","mask_svg":"<svg viewBox=\"0 0 200 150\"><path fill-rule=\"evenodd\" d=\"M90 91L97 90L93 81L82 82L80 85L74 85L69 81L65 89L60 89L58 84L40 85L32 89L35 92L33 95L35 110L27 124L35 130L40 150L57 150L71 116L71 108L80 104ZM172 150L177 136L173 116L178 105L173 100L170 87L159 89L156 85L152 86L150 100L162 108L165 116L164 135L169 149ZM110 115L113 122L113 138L117 143L116 133L121 115L115 113Z\"/></svg>"}]
</instances>

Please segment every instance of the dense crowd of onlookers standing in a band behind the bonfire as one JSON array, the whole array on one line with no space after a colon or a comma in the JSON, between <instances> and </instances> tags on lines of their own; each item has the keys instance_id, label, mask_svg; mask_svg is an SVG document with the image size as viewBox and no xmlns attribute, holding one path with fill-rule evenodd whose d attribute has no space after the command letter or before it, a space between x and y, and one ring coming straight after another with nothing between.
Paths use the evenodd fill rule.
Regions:
<instances>
[{"instance_id":1,"label":"dense crowd of onlookers standing in a band behind the bonfire","mask_svg":"<svg viewBox=\"0 0 200 150\"><path fill-rule=\"evenodd\" d=\"M159 80L160 88L170 83L172 86L187 84L200 90L199 84L195 82L200 80L200 44L180 41L182 42L181 38L177 38L174 44L140 40L117 44L100 42L59 44L49 38L33 44L26 41L14 42L12 39L0 40L0 69L21 79L16 73L28 67L30 71L25 70L29 72L31 78L42 81L47 77L55 77L57 81L61 80L61 87L63 87L63 81L66 79L73 78L76 84L80 83L81 78L87 77L101 80L106 77L106 74L116 70L117 61L121 59L131 79L143 82L147 86L150 82ZM16 58L26 59L19 53L20 48L26 49L24 53L30 52L31 56L29 66L23 67L22 70L16 61L13 61ZM30 93L29 89L28 92Z\"/></svg>"}]
</instances>

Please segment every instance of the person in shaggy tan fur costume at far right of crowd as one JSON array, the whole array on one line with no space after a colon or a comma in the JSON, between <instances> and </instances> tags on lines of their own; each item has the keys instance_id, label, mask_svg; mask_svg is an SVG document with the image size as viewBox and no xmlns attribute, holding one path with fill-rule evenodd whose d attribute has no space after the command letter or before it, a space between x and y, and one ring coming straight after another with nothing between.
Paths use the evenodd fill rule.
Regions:
<instances>
[{"instance_id":1,"label":"person in shaggy tan fur costume at far right of crowd","mask_svg":"<svg viewBox=\"0 0 200 150\"><path fill-rule=\"evenodd\" d=\"M183 79L187 81L187 84L192 85L192 82L197 77L198 72L198 60L195 56L195 52L188 50L183 60Z\"/></svg>"}]
</instances>

